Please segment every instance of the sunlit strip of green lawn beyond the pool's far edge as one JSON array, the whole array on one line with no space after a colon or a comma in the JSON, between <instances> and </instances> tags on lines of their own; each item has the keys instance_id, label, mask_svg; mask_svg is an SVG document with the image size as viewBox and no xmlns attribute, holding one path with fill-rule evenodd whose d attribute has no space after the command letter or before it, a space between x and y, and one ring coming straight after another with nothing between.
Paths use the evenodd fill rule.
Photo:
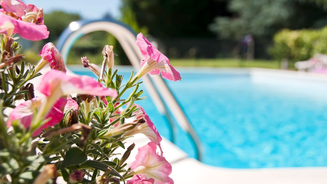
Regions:
<instances>
[{"instance_id":1,"label":"sunlit strip of green lawn beyond the pool's far edge","mask_svg":"<svg viewBox=\"0 0 327 184\"><path fill-rule=\"evenodd\" d=\"M173 66L280 68L280 62L275 60L247 61L237 59L171 59L170 63Z\"/></svg>"}]
</instances>

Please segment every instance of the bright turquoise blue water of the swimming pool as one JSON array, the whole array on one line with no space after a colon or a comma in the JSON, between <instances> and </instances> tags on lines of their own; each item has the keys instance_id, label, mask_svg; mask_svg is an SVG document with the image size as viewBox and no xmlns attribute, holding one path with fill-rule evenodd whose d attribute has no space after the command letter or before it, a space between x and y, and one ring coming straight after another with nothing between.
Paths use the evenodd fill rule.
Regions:
<instances>
[{"instance_id":1,"label":"bright turquoise blue water of the swimming pool","mask_svg":"<svg viewBox=\"0 0 327 184\"><path fill-rule=\"evenodd\" d=\"M128 78L130 69L122 71ZM180 72L182 81L167 84L203 143L204 163L228 168L327 166L327 87L257 82L244 72ZM167 122L151 99L137 103L169 138ZM185 132L178 128L175 138L177 146L194 156Z\"/></svg>"}]
</instances>

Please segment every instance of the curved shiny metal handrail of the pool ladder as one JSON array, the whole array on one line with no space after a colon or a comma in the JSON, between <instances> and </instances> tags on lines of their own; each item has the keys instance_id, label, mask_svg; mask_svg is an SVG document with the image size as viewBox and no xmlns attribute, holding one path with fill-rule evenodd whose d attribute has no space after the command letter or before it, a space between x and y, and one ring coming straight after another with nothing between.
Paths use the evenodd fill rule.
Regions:
<instances>
[{"instance_id":1,"label":"curved shiny metal handrail of the pool ladder","mask_svg":"<svg viewBox=\"0 0 327 184\"><path fill-rule=\"evenodd\" d=\"M143 56L135 44L135 32L129 26L113 19L80 20L70 23L61 33L57 43L57 48L61 52L63 60L65 62L67 61L68 53L78 38L94 31L107 31L112 34L124 49L134 69L137 71L140 70L140 61L143 59ZM195 156L201 161L203 151L201 141L162 77L160 75L145 75L142 80L159 113L170 124L170 141L173 143L175 141L175 126L169 112L173 115L182 130L188 133L193 142Z\"/></svg>"}]
</instances>

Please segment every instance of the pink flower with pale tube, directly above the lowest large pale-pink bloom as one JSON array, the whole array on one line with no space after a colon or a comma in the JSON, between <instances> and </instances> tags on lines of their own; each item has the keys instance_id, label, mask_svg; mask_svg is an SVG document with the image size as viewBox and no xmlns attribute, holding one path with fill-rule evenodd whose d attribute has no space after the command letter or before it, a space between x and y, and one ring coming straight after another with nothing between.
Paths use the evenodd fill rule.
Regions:
<instances>
[{"instance_id":1,"label":"pink flower with pale tube, directly above the lowest large pale-pink bloom","mask_svg":"<svg viewBox=\"0 0 327 184\"><path fill-rule=\"evenodd\" d=\"M134 104L134 105L137 108L139 108L139 107L141 108L138 112L136 112L136 114L142 112L142 115L144 115L146 123L141 123L140 125L136 126L132 130L127 132L127 134L125 134L125 135L126 136L133 136L135 134L144 134L152 142L157 144L159 146L160 150L161 150L160 142L162 141L162 138L161 138L158 130L154 126L153 122L150 120L149 116L146 114L145 110L140 105L137 105L137 104ZM161 155L162 154L163 154L163 152L161 150Z\"/></svg>"}]
</instances>

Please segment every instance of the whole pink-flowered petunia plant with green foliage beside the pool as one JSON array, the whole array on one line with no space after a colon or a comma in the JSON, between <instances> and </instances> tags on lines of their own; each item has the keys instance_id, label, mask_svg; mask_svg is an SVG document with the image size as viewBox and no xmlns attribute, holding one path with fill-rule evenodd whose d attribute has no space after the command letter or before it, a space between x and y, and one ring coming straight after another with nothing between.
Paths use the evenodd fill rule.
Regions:
<instances>
[{"instance_id":1,"label":"whole pink-flowered petunia plant with green foliage beside the pool","mask_svg":"<svg viewBox=\"0 0 327 184\"><path fill-rule=\"evenodd\" d=\"M139 80L147 73L181 80L168 58L140 33L136 44L145 59L125 84L124 76L114 69L113 47L108 45L101 68L81 58L97 80L66 74L52 43L41 50L37 66L28 64L26 69L18 37L13 35L47 38L43 9L20 0L0 0L0 5L0 181L42 184L62 177L67 183L173 184L162 138L145 110L135 104L146 98ZM42 75L39 71L46 65L51 70ZM31 83L34 78L40 82ZM37 97L34 85L41 94ZM132 93L122 99L130 88ZM149 143L138 148L135 161L127 165L135 144L124 141L139 133ZM119 147L124 151L117 151Z\"/></svg>"}]
</instances>

